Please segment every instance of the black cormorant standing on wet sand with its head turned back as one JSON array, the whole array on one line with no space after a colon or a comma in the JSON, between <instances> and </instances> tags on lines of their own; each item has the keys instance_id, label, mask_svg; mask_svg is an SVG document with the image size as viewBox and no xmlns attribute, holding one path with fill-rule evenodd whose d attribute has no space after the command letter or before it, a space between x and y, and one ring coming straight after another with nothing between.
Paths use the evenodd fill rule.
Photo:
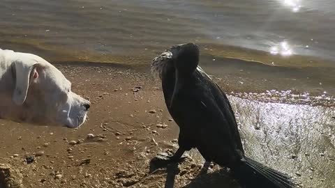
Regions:
<instances>
[{"instance_id":1,"label":"black cormorant standing on wet sand with its head turned back","mask_svg":"<svg viewBox=\"0 0 335 188\"><path fill-rule=\"evenodd\" d=\"M199 54L193 43L176 45L151 64L179 126L179 149L170 161L197 148L207 163L228 167L244 187L295 187L288 175L246 157L228 97L198 66Z\"/></svg>"}]
</instances>

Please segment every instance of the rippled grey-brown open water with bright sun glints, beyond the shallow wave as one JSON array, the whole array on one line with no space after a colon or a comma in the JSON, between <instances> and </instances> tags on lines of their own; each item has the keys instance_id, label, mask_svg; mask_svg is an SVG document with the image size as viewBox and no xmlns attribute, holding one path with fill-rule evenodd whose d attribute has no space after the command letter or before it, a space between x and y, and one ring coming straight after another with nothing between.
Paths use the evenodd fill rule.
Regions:
<instances>
[{"instance_id":1,"label":"rippled grey-brown open water with bright sun glints, beyond the shallow wave","mask_svg":"<svg viewBox=\"0 0 335 188\"><path fill-rule=\"evenodd\" d=\"M4 36L127 55L193 40L334 58L334 9L330 0L0 2Z\"/></svg>"}]
</instances>

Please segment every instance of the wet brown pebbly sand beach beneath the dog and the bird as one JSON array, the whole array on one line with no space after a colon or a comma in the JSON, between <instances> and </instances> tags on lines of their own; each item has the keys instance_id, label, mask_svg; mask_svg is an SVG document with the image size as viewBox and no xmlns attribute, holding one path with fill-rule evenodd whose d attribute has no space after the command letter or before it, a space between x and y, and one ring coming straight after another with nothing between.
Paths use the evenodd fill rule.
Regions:
<instances>
[{"instance_id":1,"label":"wet brown pebbly sand beach beneath the dog and the bird","mask_svg":"<svg viewBox=\"0 0 335 188\"><path fill-rule=\"evenodd\" d=\"M147 67L68 63L57 68L73 82L73 91L92 102L89 120L78 130L0 121L0 163L10 165L24 187L163 187L167 177L168 186L174 178L174 187L238 187L218 166L195 178L202 165L196 151L179 164L175 177L165 169L149 174L157 152L177 149L178 128ZM229 98L248 156L290 173L303 187L334 187L334 100L311 95L297 102L304 96L295 93L284 93L283 100L262 87L244 93L248 87L239 81L253 79L229 74L214 79L234 92ZM284 89L279 85L278 91ZM24 162L36 155L36 162ZM87 159L89 164L83 163ZM0 187L2 182L0 175Z\"/></svg>"}]
</instances>

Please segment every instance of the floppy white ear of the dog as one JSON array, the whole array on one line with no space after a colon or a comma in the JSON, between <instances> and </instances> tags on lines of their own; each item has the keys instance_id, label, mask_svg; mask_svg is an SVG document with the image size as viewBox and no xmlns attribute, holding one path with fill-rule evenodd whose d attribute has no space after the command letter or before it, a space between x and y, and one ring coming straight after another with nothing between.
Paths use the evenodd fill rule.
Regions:
<instances>
[{"instance_id":1,"label":"floppy white ear of the dog","mask_svg":"<svg viewBox=\"0 0 335 188\"><path fill-rule=\"evenodd\" d=\"M38 77L36 71L36 61L21 61L17 60L13 63L15 65L15 90L13 93L13 102L17 105L22 105L26 100L29 84L32 78Z\"/></svg>"}]
</instances>

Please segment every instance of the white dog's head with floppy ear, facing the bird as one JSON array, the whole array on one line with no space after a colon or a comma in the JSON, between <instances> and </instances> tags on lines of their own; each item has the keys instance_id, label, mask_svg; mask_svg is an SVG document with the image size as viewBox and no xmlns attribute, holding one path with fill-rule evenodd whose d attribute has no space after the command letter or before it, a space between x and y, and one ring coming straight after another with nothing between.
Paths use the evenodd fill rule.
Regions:
<instances>
[{"instance_id":1,"label":"white dog's head with floppy ear, facing the bird","mask_svg":"<svg viewBox=\"0 0 335 188\"><path fill-rule=\"evenodd\" d=\"M0 119L80 127L90 107L40 56L0 49Z\"/></svg>"}]
</instances>

